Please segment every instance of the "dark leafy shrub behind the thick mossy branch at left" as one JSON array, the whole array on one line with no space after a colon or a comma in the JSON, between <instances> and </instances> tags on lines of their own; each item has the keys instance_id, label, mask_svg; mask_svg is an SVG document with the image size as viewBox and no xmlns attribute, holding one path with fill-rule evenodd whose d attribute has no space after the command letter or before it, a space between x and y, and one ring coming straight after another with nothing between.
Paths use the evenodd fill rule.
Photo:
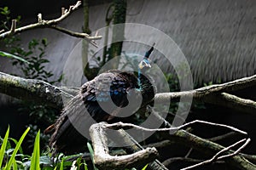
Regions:
<instances>
[{"instance_id":1,"label":"dark leafy shrub behind the thick mossy branch at left","mask_svg":"<svg viewBox=\"0 0 256 170\"><path fill-rule=\"evenodd\" d=\"M9 30L11 26L10 11L8 7L0 8L0 15L4 19L0 23L0 29ZM20 16L16 19L20 23ZM49 59L45 58L45 49L48 46L46 38L41 40L32 39L28 42L27 47L20 44L20 37L11 36L3 39L3 44L9 52L0 51L0 56L12 59L12 64L20 69L22 77L30 79L43 80L44 82L57 83L61 82L62 77L57 80L52 80L53 72L46 68L49 64ZM20 104L19 104L20 105ZM37 135L39 128L48 127L50 123L54 122L55 116L59 111L49 108L49 106L30 102L22 102L19 109L20 114L29 116L27 126L31 127L28 133L27 145L28 149L32 150L33 139ZM49 136L41 135L41 143L46 145Z\"/></svg>"}]
</instances>

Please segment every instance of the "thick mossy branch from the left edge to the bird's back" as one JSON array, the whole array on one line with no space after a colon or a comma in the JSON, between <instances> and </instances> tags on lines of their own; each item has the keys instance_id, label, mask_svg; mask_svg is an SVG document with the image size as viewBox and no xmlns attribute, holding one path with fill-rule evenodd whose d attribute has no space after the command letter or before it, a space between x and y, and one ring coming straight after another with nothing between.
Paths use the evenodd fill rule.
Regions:
<instances>
[{"instance_id":1,"label":"thick mossy branch from the left edge to the bird's back","mask_svg":"<svg viewBox=\"0 0 256 170\"><path fill-rule=\"evenodd\" d=\"M61 88L50 85L48 82L15 77L0 72L0 93L8 94L17 99L31 100L44 103L61 109L62 97L70 99L72 94L67 94Z\"/></svg>"}]
</instances>

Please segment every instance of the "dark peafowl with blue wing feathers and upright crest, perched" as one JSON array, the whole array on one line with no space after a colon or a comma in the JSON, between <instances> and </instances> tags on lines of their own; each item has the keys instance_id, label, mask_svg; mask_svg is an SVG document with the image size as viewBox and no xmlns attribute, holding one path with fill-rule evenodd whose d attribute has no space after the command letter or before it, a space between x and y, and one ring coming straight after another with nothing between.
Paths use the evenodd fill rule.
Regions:
<instances>
[{"instance_id":1,"label":"dark peafowl with blue wing feathers and upright crest, perched","mask_svg":"<svg viewBox=\"0 0 256 170\"><path fill-rule=\"evenodd\" d=\"M80 131L82 129L88 132L93 123L90 118L95 122L111 122L131 100L137 100L131 97L141 96L140 107L146 106L154 98L154 83L143 74L151 67L148 58L153 50L154 45L138 64L136 74L118 70L107 71L84 83L79 94L65 106L55 124L44 131L53 132L49 144L54 153L85 150L86 139ZM102 109L102 105L108 105L108 111Z\"/></svg>"}]
</instances>

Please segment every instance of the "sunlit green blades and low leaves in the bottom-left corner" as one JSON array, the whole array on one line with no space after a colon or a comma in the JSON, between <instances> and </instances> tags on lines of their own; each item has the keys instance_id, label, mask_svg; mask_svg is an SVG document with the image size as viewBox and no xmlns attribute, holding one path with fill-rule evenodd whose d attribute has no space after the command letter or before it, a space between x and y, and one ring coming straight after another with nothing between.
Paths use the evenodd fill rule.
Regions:
<instances>
[{"instance_id":1,"label":"sunlit green blades and low leaves in the bottom-left corner","mask_svg":"<svg viewBox=\"0 0 256 170\"><path fill-rule=\"evenodd\" d=\"M9 138L9 127L5 133L3 139L0 138L0 169L10 170L10 169L42 169L42 170L55 170L55 169L83 169L88 170L86 162L83 160L83 154L77 154L72 156L64 156L60 154L57 157L52 157L49 152L41 153L40 152L40 130L37 133L37 136L33 143L32 155L24 155L21 148L21 144L26 138L27 133L30 131L30 127L26 128L26 131L21 135L19 141L16 139ZM15 143L15 147L11 144ZM93 159L94 151L90 145L87 144L88 149L90 150L90 156ZM146 169L148 165L143 167L143 170ZM96 170L96 166L93 164L93 168ZM136 168L132 168L136 170Z\"/></svg>"}]
</instances>

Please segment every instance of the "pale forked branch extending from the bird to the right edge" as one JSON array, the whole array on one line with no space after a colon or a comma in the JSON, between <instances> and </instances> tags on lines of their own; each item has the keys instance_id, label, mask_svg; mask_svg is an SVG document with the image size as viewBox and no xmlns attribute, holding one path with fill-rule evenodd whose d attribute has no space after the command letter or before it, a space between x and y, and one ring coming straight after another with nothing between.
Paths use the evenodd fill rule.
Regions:
<instances>
[{"instance_id":1,"label":"pale forked branch extending from the bird to the right edge","mask_svg":"<svg viewBox=\"0 0 256 170\"><path fill-rule=\"evenodd\" d=\"M154 100L157 103L165 103L171 101L178 101L181 97L187 97L204 101L209 104L222 105L238 111L248 113L255 113L256 102L249 99L241 99L235 95L227 94L243 88L256 86L256 75L252 77L244 77L232 82L225 82L223 84L215 84L204 88L197 88L184 92L172 92L155 94Z\"/></svg>"}]
</instances>

